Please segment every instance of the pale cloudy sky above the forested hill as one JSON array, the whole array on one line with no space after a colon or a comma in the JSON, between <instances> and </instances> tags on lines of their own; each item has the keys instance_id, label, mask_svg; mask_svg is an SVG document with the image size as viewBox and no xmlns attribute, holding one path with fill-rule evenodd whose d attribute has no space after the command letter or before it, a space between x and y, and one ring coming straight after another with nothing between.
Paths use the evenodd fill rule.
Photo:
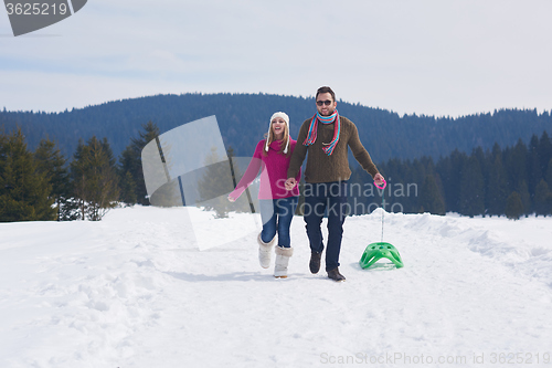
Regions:
<instances>
[{"instance_id":1,"label":"pale cloudy sky above the forested hill","mask_svg":"<svg viewBox=\"0 0 552 368\"><path fill-rule=\"evenodd\" d=\"M329 85L401 115L550 111L551 13L548 0L91 0L13 36L0 9L0 108Z\"/></svg>"}]
</instances>

